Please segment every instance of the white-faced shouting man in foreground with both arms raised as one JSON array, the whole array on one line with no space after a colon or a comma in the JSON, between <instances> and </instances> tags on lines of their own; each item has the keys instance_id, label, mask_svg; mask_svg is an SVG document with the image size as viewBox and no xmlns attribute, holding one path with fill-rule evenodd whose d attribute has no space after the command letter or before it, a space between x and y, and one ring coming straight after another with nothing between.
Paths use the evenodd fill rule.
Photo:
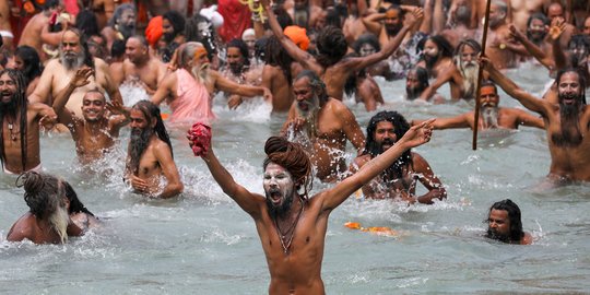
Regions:
<instances>
[{"instance_id":1,"label":"white-faced shouting man in foreground with both arms raised","mask_svg":"<svg viewBox=\"0 0 590 295\"><path fill-rule=\"evenodd\" d=\"M271 276L269 294L326 294L321 263L330 213L405 150L427 142L432 130L428 123L411 128L358 173L312 197L311 162L299 144L279 137L267 140L262 196L234 180L215 156L208 134L193 133L189 133L193 151L194 144L203 148L205 152L197 155L223 191L255 221Z\"/></svg>"}]
</instances>

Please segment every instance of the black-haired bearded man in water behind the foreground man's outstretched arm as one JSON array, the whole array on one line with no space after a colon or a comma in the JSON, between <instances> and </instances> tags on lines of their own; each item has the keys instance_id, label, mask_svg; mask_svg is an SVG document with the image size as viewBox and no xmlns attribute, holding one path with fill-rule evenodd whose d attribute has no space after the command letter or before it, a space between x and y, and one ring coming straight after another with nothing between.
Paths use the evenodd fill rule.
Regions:
<instances>
[{"instance_id":1,"label":"black-haired bearded man in water behind the foreground man's outstretched arm","mask_svg":"<svg viewBox=\"0 0 590 295\"><path fill-rule=\"evenodd\" d=\"M363 154L354 160L350 170L357 173L373 158L391 149L398 139L410 130L405 118L397 111L380 111L367 125L367 143ZM428 189L416 196L416 181ZM363 186L363 194L370 199L399 199L409 203L434 203L435 199L447 198L447 191L436 177L430 165L420 154L406 150L379 176Z\"/></svg>"}]
</instances>

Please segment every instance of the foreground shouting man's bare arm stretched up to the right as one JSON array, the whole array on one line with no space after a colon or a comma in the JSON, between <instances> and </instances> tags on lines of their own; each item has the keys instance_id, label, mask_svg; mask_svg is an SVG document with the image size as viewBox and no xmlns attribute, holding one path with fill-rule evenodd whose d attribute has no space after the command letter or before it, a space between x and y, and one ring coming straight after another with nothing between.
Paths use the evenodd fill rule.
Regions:
<instances>
[{"instance_id":1,"label":"foreground shouting man's bare arm stretched up to the right","mask_svg":"<svg viewBox=\"0 0 590 295\"><path fill-rule=\"evenodd\" d=\"M316 198L322 198L320 200L322 202L322 211L331 211L340 205L354 191L362 188L387 167L391 166L405 150L428 142L432 135L432 122L433 120L428 120L420 126L410 128L403 138L396 142L396 144L389 148L385 153L363 165L357 173L344 179L332 189L318 194Z\"/></svg>"}]
</instances>

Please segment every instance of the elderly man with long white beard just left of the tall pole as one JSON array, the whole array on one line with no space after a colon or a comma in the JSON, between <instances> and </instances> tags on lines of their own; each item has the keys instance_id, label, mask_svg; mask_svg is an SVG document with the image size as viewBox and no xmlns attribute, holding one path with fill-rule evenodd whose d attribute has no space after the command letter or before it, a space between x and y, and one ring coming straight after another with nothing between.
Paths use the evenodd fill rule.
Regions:
<instances>
[{"instance_id":1,"label":"elderly man with long white beard just left of the tall pole","mask_svg":"<svg viewBox=\"0 0 590 295\"><path fill-rule=\"evenodd\" d=\"M453 64L440 72L436 81L422 93L420 98L428 101L440 86L448 82L452 99L473 99L480 69L477 56L481 51L482 47L474 39L464 39L459 43L455 50Z\"/></svg>"}]
</instances>

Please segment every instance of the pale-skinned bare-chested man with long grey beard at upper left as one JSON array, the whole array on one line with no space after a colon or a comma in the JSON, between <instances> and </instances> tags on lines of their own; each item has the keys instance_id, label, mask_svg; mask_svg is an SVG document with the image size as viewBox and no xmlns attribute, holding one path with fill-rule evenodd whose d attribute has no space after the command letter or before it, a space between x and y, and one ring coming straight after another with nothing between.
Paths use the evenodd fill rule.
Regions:
<instances>
[{"instance_id":1,"label":"pale-skinned bare-chested man with long grey beard at upper left","mask_svg":"<svg viewBox=\"0 0 590 295\"><path fill-rule=\"evenodd\" d=\"M73 27L66 30L59 48L60 58L50 60L45 67L35 92L28 97L32 103L50 104L49 97L57 97L60 92L66 91L81 68L93 69L93 75L90 78L90 83L78 87L72 93L66 105L75 116L83 117L82 98L87 91L93 88L103 88L108 93L110 101L122 103L119 88L110 76L108 64L90 55L79 30Z\"/></svg>"}]
</instances>

